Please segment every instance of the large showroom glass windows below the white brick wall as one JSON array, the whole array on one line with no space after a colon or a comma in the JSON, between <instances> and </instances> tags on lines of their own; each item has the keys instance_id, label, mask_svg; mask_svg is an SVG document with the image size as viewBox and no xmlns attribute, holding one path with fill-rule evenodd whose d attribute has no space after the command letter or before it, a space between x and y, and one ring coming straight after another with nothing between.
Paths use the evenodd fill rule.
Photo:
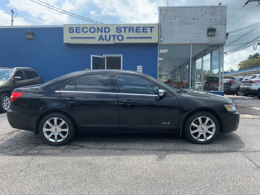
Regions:
<instances>
[{"instance_id":1,"label":"large showroom glass windows below the white brick wall","mask_svg":"<svg viewBox=\"0 0 260 195\"><path fill-rule=\"evenodd\" d=\"M159 45L158 79L175 88L222 90L222 51L223 45Z\"/></svg>"}]
</instances>

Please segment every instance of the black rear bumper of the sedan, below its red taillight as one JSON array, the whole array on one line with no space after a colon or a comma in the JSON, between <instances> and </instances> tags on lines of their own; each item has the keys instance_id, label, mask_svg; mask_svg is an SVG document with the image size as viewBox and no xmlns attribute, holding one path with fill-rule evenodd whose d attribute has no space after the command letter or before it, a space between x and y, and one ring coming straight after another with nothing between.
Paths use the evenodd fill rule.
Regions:
<instances>
[{"instance_id":1,"label":"black rear bumper of the sedan, below its red taillight","mask_svg":"<svg viewBox=\"0 0 260 195\"><path fill-rule=\"evenodd\" d=\"M34 131L36 118L33 117L33 112L17 112L8 110L6 112L7 120L11 127L15 129L22 129L26 131Z\"/></svg>"}]
</instances>

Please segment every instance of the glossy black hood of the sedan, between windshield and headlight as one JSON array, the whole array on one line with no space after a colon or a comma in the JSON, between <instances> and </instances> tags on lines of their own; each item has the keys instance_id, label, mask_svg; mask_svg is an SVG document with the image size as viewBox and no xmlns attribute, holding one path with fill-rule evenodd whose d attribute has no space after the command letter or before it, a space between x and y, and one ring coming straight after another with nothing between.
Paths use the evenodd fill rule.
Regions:
<instances>
[{"instance_id":1,"label":"glossy black hood of the sedan, between windshield and headlight","mask_svg":"<svg viewBox=\"0 0 260 195\"><path fill-rule=\"evenodd\" d=\"M189 90L185 90L187 93L185 93L186 96L192 96L195 98L204 98L204 99L211 99L211 100L216 100L216 101L222 101L222 102L226 102L229 104L233 104L234 101L224 97L222 95L217 95L217 94L213 94L213 93L207 93L207 92L203 92L203 91L189 91Z\"/></svg>"}]
</instances>

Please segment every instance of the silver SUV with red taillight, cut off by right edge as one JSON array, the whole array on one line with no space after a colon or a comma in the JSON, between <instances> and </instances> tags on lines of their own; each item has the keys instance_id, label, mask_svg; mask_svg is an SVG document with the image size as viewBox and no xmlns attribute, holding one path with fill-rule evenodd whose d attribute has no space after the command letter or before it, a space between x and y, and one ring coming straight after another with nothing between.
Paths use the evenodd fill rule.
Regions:
<instances>
[{"instance_id":1,"label":"silver SUV with red taillight, cut off by right edge","mask_svg":"<svg viewBox=\"0 0 260 195\"><path fill-rule=\"evenodd\" d=\"M260 99L260 74L247 75L242 80L240 91Z\"/></svg>"}]
</instances>

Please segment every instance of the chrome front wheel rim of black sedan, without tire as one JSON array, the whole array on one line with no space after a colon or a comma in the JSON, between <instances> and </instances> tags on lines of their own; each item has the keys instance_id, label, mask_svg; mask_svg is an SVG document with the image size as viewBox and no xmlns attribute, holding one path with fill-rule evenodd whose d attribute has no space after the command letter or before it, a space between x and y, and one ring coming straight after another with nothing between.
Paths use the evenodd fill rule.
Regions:
<instances>
[{"instance_id":1,"label":"chrome front wheel rim of black sedan, without tire","mask_svg":"<svg viewBox=\"0 0 260 195\"><path fill-rule=\"evenodd\" d=\"M195 140L207 141L214 135L216 131L216 125L207 116L201 116L196 118L191 126L190 133Z\"/></svg>"}]
</instances>

